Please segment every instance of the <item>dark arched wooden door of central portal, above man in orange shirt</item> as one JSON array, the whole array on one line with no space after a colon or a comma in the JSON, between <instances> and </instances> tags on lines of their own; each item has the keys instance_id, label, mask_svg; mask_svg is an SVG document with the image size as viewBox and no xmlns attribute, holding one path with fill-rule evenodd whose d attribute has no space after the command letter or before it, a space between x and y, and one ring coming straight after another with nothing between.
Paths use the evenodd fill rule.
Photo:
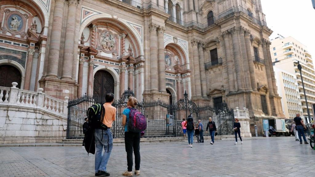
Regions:
<instances>
[{"instance_id":1,"label":"dark arched wooden door of central portal, above man in orange shirt","mask_svg":"<svg viewBox=\"0 0 315 177\"><path fill-rule=\"evenodd\" d=\"M114 93L114 78L108 71L100 70L94 75L93 97L97 101L105 102L105 95Z\"/></svg>"}]
</instances>

